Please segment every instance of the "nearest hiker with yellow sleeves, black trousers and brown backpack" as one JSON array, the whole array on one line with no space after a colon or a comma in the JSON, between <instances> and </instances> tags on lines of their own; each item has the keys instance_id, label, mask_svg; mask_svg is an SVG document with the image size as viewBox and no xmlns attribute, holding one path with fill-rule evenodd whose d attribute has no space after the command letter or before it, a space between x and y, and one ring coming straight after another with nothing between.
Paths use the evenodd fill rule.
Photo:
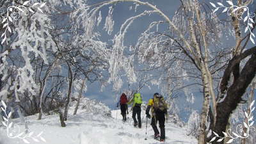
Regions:
<instances>
[{"instance_id":1,"label":"nearest hiker with yellow sleeves, black trousers and brown backpack","mask_svg":"<svg viewBox=\"0 0 256 144\"><path fill-rule=\"evenodd\" d=\"M151 115L152 115L151 126L155 133L154 138L155 139L160 138L160 141L164 141L165 140L164 115L166 115L166 118L168 117L168 114L167 114L168 106L164 101L163 96L159 95L159 93L155 93L154 98L148 101L148 106L146 109L147 118L150 118L150 114L149 114L150 108L151 108ZM159 122L161 136L159 135L159 131L157 129L157 125L156 125L157 121Z\"/></svg>"}]
</instances>

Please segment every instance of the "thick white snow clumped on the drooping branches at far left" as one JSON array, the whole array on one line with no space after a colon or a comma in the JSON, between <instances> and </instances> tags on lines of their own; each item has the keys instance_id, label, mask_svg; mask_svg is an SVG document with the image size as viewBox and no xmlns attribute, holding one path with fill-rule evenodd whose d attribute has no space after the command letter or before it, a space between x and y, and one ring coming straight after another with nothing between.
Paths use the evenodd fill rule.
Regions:
<instances>
[{"instance_id":1,"label":"thick white snow clumped on the drooping branches at far left","mask_svg":"<svg viewBox=\"0 0 256 144\"><path fill-rule=\"evenodd\" d=\"M47 24L50 23L49 17L42 12L45 4L25 1L20 5L9 6L5 13L6 16L2 21L5 30L1 35L3 38L1 43L4 44L4 42L7 42L7 31L13 33L15 36L10 39L12 40L10 47L13 51L19 49L24 61L23 67L15 67L16 76L15 82L13 83L15 86L11 86L10 88L16 92L22 93L24 90L29 90L29 92L35 94L36 88L38 88L33 79L34 70L31 65L31 53L35 54L35 57L40 56L44 60L44 63L48 63L46 49L52 48L53 51L56 51L51 34L49 33L49 26L47 27ZM29 13L33 13L33 15L29 15ZM15 25L15 30L12 31L10 24ZM6 51L3 56L8 56L9 54L10 51ZM1 63L1 66L4 66L6 70L1 69L0 74L3 74L2 79L4 79L8 77L7 71L10 65L8 64L7 58L4 57L2 60L3 63ZM10 83L10 85L13 84ZM8 90L8 86L2 88L2 90ZM0 95L6 96L6 93L0 93ZM15 96L17 97L16 94Z\"/></svg>"}]
</instances>

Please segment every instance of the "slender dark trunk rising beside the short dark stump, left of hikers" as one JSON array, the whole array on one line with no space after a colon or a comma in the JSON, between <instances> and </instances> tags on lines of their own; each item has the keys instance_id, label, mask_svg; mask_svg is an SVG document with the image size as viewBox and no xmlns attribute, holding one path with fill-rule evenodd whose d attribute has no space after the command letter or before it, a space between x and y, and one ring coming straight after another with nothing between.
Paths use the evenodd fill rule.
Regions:
<instances>
[{"instance_id":1,"label":"slender dark trunk rising beside the short dark stump, left of hikers","mask_svg":"<svg viewBox=\"0 0 256 144\"><path fill-rule=\"evenodd\" d=\"M67 115L68 115L68 104L70 102L71 99L71 92L72 92L72 84L73 84L73 74L72 74L72 69L70 67L70 64L67 62L68 64L68 77L69 77L69 86L68 86L68 97L67 97L67 102L65 104L65 110L64 110L64 115L63 115L63 119L67 120Z\"/></svg>"}]
</instances>

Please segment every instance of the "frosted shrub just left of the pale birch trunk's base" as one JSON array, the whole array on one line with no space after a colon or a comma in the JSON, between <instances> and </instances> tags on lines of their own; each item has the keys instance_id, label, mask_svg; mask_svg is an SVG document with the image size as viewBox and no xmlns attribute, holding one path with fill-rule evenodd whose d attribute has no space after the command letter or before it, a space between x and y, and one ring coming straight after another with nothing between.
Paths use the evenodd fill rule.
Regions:
<instances>
[{"instance_id":1,"label":"frosted shrub just left of the pale birch trunk's base","mask_svg":"<svg viewBox=\"0 0 256 144\"><path fill-rule=\"evenodd\" d=\"M186 124L186 131L188 136L194 136L198 138L198 129L200 126L200 115L197 111L192 111L189 116L188 123Z\"/></svg>"}]
</instances>

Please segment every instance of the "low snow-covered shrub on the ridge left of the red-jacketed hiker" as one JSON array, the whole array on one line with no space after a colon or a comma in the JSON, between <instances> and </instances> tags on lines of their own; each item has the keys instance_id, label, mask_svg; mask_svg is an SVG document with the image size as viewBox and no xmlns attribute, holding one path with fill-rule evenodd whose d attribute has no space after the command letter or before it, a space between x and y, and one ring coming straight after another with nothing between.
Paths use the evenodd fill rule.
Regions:
<instances>
[{"instance_id":1,"label":"low snow-covered shrub on the ridge left of the red-jacketed hiker","mask_svg":"<svg viewBox=\"0 0 256 144\"><path fill-rule=\"evenodd\" d=\"M75 107L76 102L77 101L74 100L74 102L70 102L70 105ZM93 113L95 115L111 117L111 109L108 108L108 106L97 100L88 99L87 97L81 97L79 109L80 111L83 109L82 111Z\"/></svg>"}]
</instances>

